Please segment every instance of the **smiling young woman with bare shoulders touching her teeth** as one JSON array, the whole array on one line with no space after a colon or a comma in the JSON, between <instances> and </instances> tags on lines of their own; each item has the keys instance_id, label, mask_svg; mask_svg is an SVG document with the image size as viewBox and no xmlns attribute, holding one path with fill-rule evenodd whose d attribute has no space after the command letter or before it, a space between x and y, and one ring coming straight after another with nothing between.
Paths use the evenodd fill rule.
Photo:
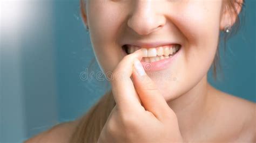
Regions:
<instances>
[{"instance_id":1,"label":"smiling young woman with bare shoulders touching her teeth","mask_svg":"<svg viewBox=\"0 0 256 143\"><path fill-rule=\"evenodd\" d=\"M256 142L255 103L213 88L219 35L242 0L82 0L110 80L86 115L27 142Z\"/></svg>"}]
</instances>

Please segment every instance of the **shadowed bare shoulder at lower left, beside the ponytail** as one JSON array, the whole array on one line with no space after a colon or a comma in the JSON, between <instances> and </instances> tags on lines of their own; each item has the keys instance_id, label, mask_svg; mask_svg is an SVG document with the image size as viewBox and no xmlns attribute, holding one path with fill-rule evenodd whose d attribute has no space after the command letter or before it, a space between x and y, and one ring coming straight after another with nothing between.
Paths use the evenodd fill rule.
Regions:
<instances>
[{"instance_id":1,"label":"shadowed bare shoulder at lower left, beside the ponytail","mask_svg":"<svg viewBox=\"0 0 256 143\"><path fill-rule=\"evenodd\" d=\"M35 135L35 137L26 140L25 143L69 142L72 133L76 129L78 121L79 120L74 120L60 123L50 128L50 130L39 133Z\"/></svg>"}]
</instances>

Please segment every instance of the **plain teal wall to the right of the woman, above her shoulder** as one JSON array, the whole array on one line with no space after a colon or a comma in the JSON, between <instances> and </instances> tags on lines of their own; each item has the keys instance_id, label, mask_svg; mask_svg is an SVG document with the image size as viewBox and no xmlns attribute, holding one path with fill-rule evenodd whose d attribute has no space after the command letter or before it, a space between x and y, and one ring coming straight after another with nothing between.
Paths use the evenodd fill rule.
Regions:
<instances>
[{"instance_id":1,"label":"plain teal wall to the right of the woman, above her shoulder","mask_svg":"<svg viewBox=\"0 0 256 143\"><path fill-rule=\"evenodd\" d=\"M226 51L221 44L219 81L208 78L214 87L253 102L256 102L255 5L254 0L246 1L245 11L240 15L240 31L227 42ZM210 71L208 75L211 74Z\"/></svg>"}]
</instances>

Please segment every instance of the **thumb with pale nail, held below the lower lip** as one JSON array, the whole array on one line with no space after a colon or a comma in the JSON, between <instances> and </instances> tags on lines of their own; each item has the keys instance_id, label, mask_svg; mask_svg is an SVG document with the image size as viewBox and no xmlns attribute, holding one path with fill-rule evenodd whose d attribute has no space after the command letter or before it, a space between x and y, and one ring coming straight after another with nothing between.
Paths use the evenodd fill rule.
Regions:
<instances>
[{"instance_id":1,"label":"thumb with pale nail, held below the lower lip","mask_svg":"<svg viewBox=\"0 0 256 143\"><path fill-rule=\"evenodd\" d=\"M160 94L156 84L147 76L138 59L134 60L132 78L145 110L152 112L159 120L164 120L165 115L170 113L172 109L166 103L163 95Z\"/></svg>"}]
</instances>

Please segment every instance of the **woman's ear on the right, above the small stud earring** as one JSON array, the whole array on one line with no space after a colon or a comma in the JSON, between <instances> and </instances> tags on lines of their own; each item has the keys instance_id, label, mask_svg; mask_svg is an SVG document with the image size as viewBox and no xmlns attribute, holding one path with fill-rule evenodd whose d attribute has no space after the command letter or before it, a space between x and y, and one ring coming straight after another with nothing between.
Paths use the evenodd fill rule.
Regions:
<instances>
[{"instance_id":1,"label":"woman's ear on the right, above the small stud earring","mask_svg":"<svg viewBox=\"0 0 256 143\"><path fill-rule=\"evenodd\" d=\"M220 30L224 30L227 25L234 25L239 13L242 10L243 3L244 0L224 0L223 13L220 19ZM235 9L232 8L231 4Z\"/></svg>"}]
</instances>

